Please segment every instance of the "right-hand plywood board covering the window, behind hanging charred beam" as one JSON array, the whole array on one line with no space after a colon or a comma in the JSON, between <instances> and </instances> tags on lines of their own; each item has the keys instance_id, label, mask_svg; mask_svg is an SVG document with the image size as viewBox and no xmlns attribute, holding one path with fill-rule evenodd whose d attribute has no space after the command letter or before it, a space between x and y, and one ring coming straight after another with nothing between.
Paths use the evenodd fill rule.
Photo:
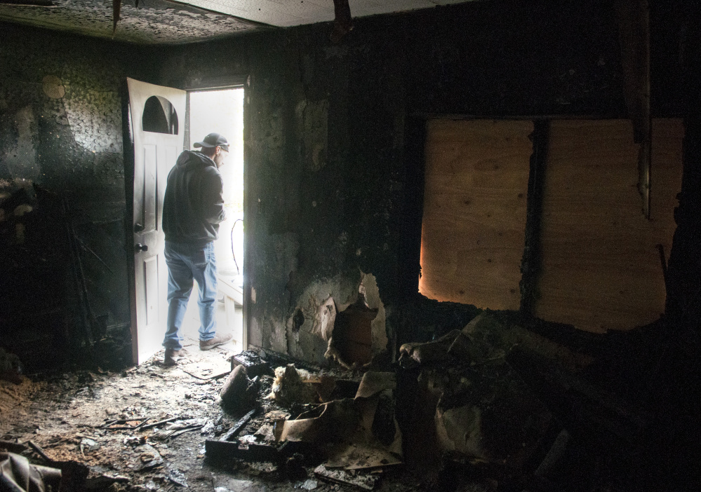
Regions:
<instances>
[{"instance_id":1,"label":"right-hand plywood board covering the window, behind hanging charred beam","mask_svg":"<svg viewBox=\"0 0 701 492\"><path fill-rule=\"evenodd\" d=\"M681 121L653 121L651 220L642 213L628 120L553 121L535 315L591 332L631 329L665 310L657 245L669 257L681 188Z\"/></svg>"}]
</instances>

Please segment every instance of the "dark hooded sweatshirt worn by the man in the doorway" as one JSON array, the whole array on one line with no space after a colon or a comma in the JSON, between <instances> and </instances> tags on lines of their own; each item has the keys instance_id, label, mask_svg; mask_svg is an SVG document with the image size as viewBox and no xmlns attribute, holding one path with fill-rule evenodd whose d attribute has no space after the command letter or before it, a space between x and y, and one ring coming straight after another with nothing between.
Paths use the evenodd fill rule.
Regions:
<instances>
[{"instance_id":1,"label":"dark hooded sweatshirt worn by the man in the doorway","mask_svg":"<svg viewBox=\"0 0 701 492\"><path fill-rule=\"evenodd\" d=\"M204 246L219 236L226 217L222 175L211 158L184 151L168 174L163 199L166 240Z\"/></svg>"}]
</instances>

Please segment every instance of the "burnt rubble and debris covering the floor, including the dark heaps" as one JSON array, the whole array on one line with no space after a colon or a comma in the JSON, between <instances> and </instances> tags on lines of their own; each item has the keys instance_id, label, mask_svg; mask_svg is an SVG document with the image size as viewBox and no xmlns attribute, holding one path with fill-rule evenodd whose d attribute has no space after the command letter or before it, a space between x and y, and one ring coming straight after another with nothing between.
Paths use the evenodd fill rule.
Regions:
<instances>
[{"instance_id":1,"label":"burnt rubble and debris covering the floor, including the dark heaps","mask_svg":"<svg viewBox=\"0 0 701 492\"><path fill-rule=\"evenodd\" d=\"M74 490L623 491L596 446L649 420L587 380L590 355L487 313L365 371L212 352L48 377L3 407L0 451Z\"/></svg>"}]
</instances>

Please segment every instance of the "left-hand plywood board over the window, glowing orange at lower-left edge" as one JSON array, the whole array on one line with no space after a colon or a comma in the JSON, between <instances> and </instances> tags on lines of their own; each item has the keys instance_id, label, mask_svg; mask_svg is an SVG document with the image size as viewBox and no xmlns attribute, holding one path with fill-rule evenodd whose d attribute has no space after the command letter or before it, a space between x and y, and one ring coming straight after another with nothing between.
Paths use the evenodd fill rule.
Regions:
<instances>
[{"instance_id":1,"label":"left-hand plywood board over the window, glowing orange at lower-left edge","mask_svg":"<svg viewBox=\"0 0 701 492\"><path fill-rule=\"evenodd\" d=\"M518 309L531 121L427 122L419 292Z\"/></svg>"}]
</instances>

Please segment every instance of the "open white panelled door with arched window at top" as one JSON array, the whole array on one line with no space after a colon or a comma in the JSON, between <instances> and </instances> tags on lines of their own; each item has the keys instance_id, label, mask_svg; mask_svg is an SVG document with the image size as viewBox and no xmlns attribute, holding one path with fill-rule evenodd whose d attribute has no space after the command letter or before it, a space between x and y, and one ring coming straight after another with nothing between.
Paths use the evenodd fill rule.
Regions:
<instances>
[{"instance_id":1,"label":"open white panelled door with arched window at top","mask_svg":"<svg viewBox=\"0 0 701 492\"><path fill-rule=\"evenodd\" d=\"M134 138L132 357L141 364L166 333L168 268L161 229L168 172L183 149L185 91L127 79Z\"/></svg>"}]
</instances>

